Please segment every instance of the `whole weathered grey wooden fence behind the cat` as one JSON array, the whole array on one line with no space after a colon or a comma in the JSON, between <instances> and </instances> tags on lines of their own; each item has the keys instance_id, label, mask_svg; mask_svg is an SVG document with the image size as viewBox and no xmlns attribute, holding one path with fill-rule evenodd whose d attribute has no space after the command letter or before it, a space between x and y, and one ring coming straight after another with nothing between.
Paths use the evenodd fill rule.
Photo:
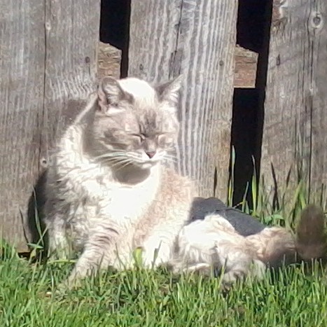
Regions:
<instances>
[{"instance_id":1,"label":"whole weathered grey wooden fence behind the cat","mask_svg":"<svg viewBox=\"0 0 327 327\"><path fill-rule=\"evenodd\" d=\"M260 171L272 194L286 179L294 186L299 170L319 188L327 179L327 5L278 0L272 9ZM70 104L96 88L99 17L100 0L0 2L0 224L20 251L33 239L33 188L76 114ZM128 74L150 82L183 74L177 169L200 182L201 195L225 200L237 0L132 0L129 19Z\"/></svg>"}]
</instances>

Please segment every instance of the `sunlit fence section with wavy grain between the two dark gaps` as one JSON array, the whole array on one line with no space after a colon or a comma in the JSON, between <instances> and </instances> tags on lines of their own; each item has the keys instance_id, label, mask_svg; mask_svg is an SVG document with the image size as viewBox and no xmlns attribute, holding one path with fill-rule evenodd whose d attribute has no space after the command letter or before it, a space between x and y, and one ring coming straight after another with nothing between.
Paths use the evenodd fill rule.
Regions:
<instances>
[{"instance_id":1,"label":"sunlit fence section with wavy grain between the two dark gaps","mask_svg":"<svg viewBox=\"0 0 327 327\"><path fill-rule=\"evenodd\" d=\"M177 169L200 194L225 199L237 0L133 0L129 76L163 82L183 74ZM216 188L214 189L216 169Z\"/></svg>"}]
</instances>

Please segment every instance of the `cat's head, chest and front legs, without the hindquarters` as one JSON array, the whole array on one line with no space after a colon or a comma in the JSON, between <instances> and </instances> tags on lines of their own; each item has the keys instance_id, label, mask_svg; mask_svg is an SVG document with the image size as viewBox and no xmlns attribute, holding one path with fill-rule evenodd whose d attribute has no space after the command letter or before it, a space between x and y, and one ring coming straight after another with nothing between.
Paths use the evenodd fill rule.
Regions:
<instances>
[{"instance_id":1,"label":"cat's head, chest and front legs, without the hindquarters","mask_svg":"<svg viewBox=\"0 0 327 327\"><path fill-rule=\"evenodd\" d=\"M97 267L144 265L172 256L188 219L192 181L160 165L179 134L181 78L152 88L137 78L102 79L64 132L48 167L45 223L50 256L81 252L67 284Z\"/></svg>"}]
</instances>

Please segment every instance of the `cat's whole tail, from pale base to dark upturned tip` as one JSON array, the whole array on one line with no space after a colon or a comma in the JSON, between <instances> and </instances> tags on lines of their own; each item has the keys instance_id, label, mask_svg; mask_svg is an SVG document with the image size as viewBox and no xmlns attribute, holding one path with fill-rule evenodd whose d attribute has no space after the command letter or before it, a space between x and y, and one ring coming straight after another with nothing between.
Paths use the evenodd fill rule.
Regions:
<instances>
[{"instance_id":1,"label":"cat's whole tail, from pale base to dark upturned tip","mask_svg":"<svg viewBox=\"0 0 327 327\"><path fill-rule=\"evenodd\" d=\"M256 249L258 259L268 267L327 258L324 214L314 204L302 210L295 235L286 228L271 227L246 239Z\"/></svg>"}]
</instances>

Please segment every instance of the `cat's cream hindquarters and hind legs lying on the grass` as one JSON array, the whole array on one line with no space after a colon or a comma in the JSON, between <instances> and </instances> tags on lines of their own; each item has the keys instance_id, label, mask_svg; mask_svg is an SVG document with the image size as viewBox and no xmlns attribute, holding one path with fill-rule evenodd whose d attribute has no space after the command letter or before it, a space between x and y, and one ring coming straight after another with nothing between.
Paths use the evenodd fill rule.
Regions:
<instances>
[{"instance_id":1,"label":"cat's cream hindquarters and hind legs lying on the grass","mask_svg":"<svg viewBox=\"0 0 327 327\"><path fill-rule=\"evenodd\" d=\"M209 274L214 267L224 271L223 286L248 275L261 279L271 259L281 263L285 254L295 253L295 239L285 228L265 228L244 237L218 214L184 226L177 244L179 251L169 263L174 272Z\"/></svg>"}]
</instances>

